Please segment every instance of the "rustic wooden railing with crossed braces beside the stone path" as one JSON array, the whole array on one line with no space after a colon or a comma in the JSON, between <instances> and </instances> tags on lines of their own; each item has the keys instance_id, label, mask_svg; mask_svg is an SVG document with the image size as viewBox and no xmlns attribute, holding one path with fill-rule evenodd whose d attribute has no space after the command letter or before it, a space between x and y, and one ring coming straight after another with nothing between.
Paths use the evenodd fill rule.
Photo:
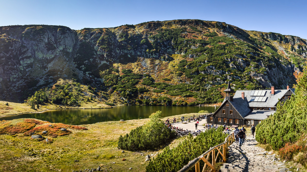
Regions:
<instances>
[{"instance_id":1,"label":"rustic wooden railing with crossed braces beside the stone path","mask_svg":"<svg viewBox=\"0 0 307 172\"><path fill-rule=\"evenodd\" d=\"M195 172L200 172L200 160L203 160L205 165L203 167L203 172L205 171L206 167L210 167L211 171L217 171L217 169L215 168L215 163L217 158L220 156L222 156L223 158L223 162L226 162L226 154L228 151L228 146L235 141L235 136L233 133L231 133L229 136L227 136L225 138L225 141L223 143L221 143L220 145L216 145L212 148L210 148L208 151L206 151L205 153L203 153L202 155L200 155L199 157L191 160L187 165L185 165L183 168L181 168L178 172L188 172L189 170L191 170L191 168L193 168L195 166ZM222 150L221 150L222 149ZM216 155L216 150L217 155ZM209 162L209 157L210 154L212 156L211 159L211 163Z\"/></svg>"}]
</instances>

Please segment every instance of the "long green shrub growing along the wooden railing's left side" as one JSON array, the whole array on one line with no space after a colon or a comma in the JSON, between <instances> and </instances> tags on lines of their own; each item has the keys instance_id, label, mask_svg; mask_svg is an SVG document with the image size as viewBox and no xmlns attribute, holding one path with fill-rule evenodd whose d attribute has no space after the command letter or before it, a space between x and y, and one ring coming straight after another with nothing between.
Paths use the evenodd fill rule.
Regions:
<instances>
[{"instance_id":1,"label":"long green shrub growing along the wooden railing's left side","mask_svg":"<svg viewBox=\"0 0 307 172\"><path fill-rule=\"evenodd\" d=\"M222 133L223 127L217 130L206 130L193 139L190 134L188 139L182 141L177 147L170 149L166 147L162 153L159 153L153 161L150 161L146 167L147 172L159 171L178 171L185 166L190 160L200 156L204 152L215 145L224 142L227 135ZM211 158L211 156L210 156ZM221 160L219 156L217 162ZM211 160L209 160L211 162ZM204 166L204 162L200 161L200 166ZM195 171L195 167L191 169Z\"/></svg>"}]
</instances>

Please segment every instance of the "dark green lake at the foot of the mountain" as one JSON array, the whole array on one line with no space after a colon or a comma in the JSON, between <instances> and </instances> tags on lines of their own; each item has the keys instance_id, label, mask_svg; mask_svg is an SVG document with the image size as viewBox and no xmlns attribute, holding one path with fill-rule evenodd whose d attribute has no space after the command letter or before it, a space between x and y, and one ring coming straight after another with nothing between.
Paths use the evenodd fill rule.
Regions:
<instances>
[{"instance_id":1,"label":"dark green lake at the foot of the mountain","mask_svg":"<svg viewBox=\"0 0 307 172\"><path fill-rule=\"evenodd\" d=\"M217 109L218 107L216 107ZM105 121L118 121L120 119L144 119L156 111L162 111L162 117L197 113L200 110L214 112L215 107L209 106L119 106L107 109L61 109L50 110L43 113L24 113L0 117L1 120L20 118L35 118L51 123L64 123L70 125L93 124Z\"/></svg>"}]
</instances>

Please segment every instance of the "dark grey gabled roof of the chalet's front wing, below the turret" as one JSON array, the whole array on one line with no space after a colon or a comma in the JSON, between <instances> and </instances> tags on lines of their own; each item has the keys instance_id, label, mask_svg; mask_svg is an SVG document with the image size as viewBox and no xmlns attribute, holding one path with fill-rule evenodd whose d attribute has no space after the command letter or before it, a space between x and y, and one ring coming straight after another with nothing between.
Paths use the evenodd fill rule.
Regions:
<instances>
[{"instance_id":1,"label":"dark grey gabled roof of the chalet's front wing, below the turret","mask_svg":"<svg viewBox=\"0 0 307 172\"><path fill-rule=\"evenodd\" d=\"M239 97L239 98L233 98L233 101L229 101L228 99L224 99L222 105L220 106L220 108L223 106L223 104L225 104L226 102L229 102L234 108L235 110L237 110L239 112L239 114L244 118L249 112L251 112L251 109L249 108L248 104L247 104L247 99L246 97L244 98L244 100ZM216 112L220 109L218 108L216 110Z\"/></svg>"}]
</instances>

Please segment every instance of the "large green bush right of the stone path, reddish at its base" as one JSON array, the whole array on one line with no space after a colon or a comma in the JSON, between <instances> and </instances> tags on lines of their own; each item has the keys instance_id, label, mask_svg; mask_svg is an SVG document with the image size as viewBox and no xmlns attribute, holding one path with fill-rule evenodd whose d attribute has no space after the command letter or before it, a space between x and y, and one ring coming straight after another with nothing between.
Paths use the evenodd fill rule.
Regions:
<instances>
[{"instance_id":1,"label":"large green bush right of the stone path, reddish at its base","mask_svg":"<svg viewBox=\"0 0 307 172\"><path fill-rule=\"evenodd\" d=\"M297 79L297 84L294 85L295 95L283 106L277 104L277 111L258 124L256 132L259 143L270 144L285 159L299 154L306 155L307 67L294 75ZM305 145L300 141L305 141Z\"/></svg>"}]
</instances>

